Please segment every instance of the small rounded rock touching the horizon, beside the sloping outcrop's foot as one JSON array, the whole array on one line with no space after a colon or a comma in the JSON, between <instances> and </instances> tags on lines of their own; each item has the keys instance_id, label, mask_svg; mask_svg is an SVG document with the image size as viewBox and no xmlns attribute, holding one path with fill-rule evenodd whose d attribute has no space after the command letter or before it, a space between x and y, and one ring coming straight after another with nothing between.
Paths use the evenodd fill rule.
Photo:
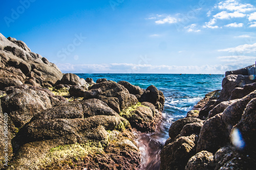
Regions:
<instances>
[{"instance_id":1,"label":"small rounded rock touching the horizon, beside the sloping outcrop's foot","mask_svg":"<svg viewBox=\"0 0 256 170\"><path fill-rule=\"evenodd\" d=\"M72 73L67 73L65 75L63 75L63 77L61 78L59 84L68 84L68 85L77 85L77 86L89 86L88 83L82 79L79 78L77 75L72 74Z\"/></svg>"}]
</instances>

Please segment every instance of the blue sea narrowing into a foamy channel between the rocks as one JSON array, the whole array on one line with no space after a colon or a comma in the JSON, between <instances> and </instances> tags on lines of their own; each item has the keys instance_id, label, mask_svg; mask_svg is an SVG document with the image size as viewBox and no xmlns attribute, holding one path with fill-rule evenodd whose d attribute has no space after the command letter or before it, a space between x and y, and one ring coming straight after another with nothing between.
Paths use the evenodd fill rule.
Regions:
<instances>
[{"instance_id":1,"label":"blue sea narrowing into a foamy channel between the rocks","mask_svg":"<svg viewBox=\"0 0 256 170\"><path fill-rule=\"evenodd\" d=\"M165 97L162 121L154 133L137 133L136 142L141 151L140 170L158 170L160 152L168 139L170 125L186 116L187 112L210 91L222 89L224 75L192 74L76 74L80 78L106 78L115 82L127 81L146 89L154 85Z\"/></svg>"}]
</instances>

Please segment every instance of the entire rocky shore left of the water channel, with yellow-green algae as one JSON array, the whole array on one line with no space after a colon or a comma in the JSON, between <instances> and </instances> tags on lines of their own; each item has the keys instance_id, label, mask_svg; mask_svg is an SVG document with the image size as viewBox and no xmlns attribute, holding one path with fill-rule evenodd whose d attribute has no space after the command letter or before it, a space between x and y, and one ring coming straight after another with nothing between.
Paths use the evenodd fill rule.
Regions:
<instances>
[{"instance_id":1,"label":"entire rocky shore left of the water channel, with yellow-green algae","mask_svg":"<svg viewBox=\"0 0 256 170\"><path fill-rule=\"evenodd\" d=\"M138 169L134 132L153 132L155 86L62 74L0 34L0 169Z\"/></svg>"}]
</instances>

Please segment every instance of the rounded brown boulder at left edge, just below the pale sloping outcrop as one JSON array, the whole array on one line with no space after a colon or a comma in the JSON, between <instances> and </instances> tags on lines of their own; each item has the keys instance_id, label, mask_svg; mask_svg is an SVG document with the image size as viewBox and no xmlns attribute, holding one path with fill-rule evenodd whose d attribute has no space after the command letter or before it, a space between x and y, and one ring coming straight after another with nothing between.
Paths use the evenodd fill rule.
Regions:
<instances>
[{"instance_id":1,"label":"rounded brown boulder at left edge, just below the pale sloping outcrop","mask_svg":"<svg viewBox=\"0 0 256 170\"><path fill-rule=\"evenodd\" d=\"M67 102L46 88L20 85L6 88L7 95L1 98L3 111L8 113L16 128L24 126L36 113Z\"/></svg>"}]
</instances>

